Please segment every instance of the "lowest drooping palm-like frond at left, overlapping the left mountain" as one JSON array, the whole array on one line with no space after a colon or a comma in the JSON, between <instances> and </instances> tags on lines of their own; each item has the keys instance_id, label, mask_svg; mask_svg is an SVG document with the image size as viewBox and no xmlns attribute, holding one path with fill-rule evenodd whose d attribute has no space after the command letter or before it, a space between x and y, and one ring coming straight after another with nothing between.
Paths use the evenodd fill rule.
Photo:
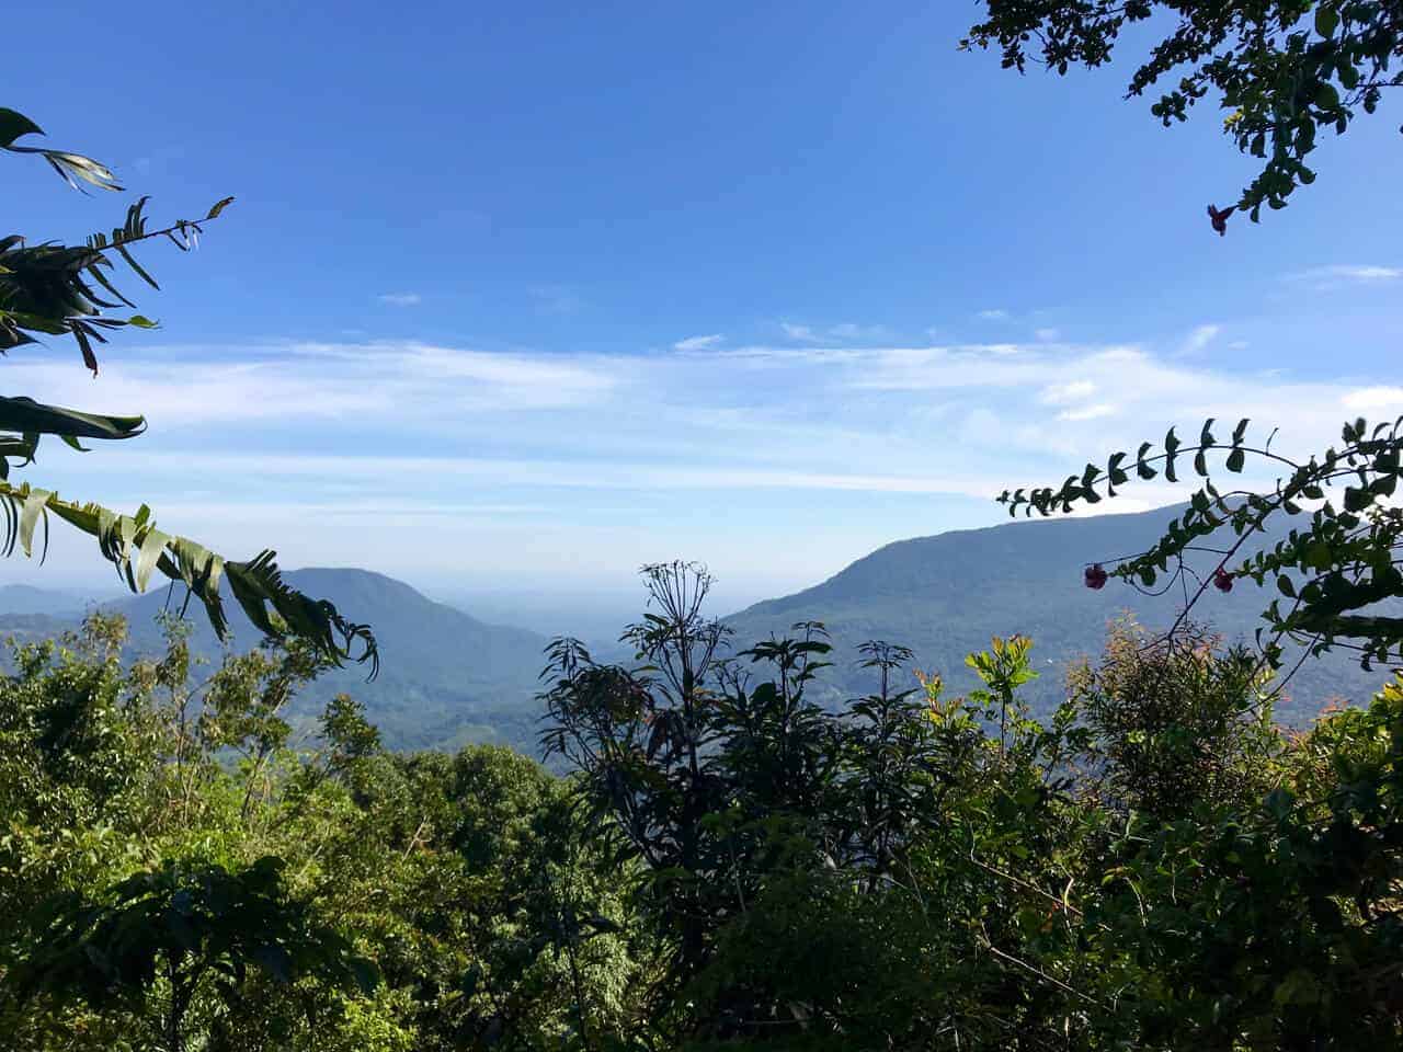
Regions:
<instances>
[{"instance_id":1,"label":"lowest drooping palm-like frond at left, overlapping the left mountain","mask_svg":"<svg viewBox=\"0 0 1403 1052\"><path fill-rule=\"evenodd\" d=\"M136 515L119 515L98 504L60 499L58 494L27 483L0 483L0 512L4 516L0 526L3 555L20 548L32 557L35 532L42 525L42 558L48 550L48 516L52 513L95 537L102 557L116 567L133 592L145 592L156 571L184 585L187 602L194 596L203 603L220 638L229 637L229 619L220 595L220 582L227 578L234 600L265 635L307 640L338 665L345 661L368 663L372 677L379 670L380 655L370 627L348 621L325 599L313 599L290 588L282 579L272 551L262 551L247 562L226 560L188 537L156 529L152 509L146 505Z\"/></svg>"}]
</instances>

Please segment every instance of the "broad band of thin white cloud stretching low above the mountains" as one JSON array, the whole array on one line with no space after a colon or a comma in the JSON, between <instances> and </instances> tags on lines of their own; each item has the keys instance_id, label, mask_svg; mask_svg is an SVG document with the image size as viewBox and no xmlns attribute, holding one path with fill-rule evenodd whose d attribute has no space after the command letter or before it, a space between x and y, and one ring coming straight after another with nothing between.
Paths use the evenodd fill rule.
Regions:
<instances>
[{"instance_id":1,"label":"broad band of thin white cloud stretching low above the mountains","mask_svg":"<svg viewBox=\"0 0 1403 1052\"><path fill-rule=\"evenodd\" d=\"M125 509L150 502L170 529L236 551L265 533L289 565L299 553L354 561L359 534L344 523L379 508L417 530L414 553L390 546L377 561L390 574L411 554L457 572L464 544L491 550L488 568L539 558L626 574L640 539L700 543L710 534L699 515L752 506L776 536L805 536L815 551L829 544L824 530L850 532L870 513L875 547L906 529L882 518L892 509L909 508L927 532L993 522L991 495L1052 483L1170 424L1281 424L1274 449L1285 452L1330 442L1344 418L1403 412L1395 384L1264 377L1136 344L609 355L288 342L149 348L97 383L67 362L7 367L43 401L152 421L101 453L42 449L25 470L36 484ZM191 488L201 478L231 481L201 498ZM1132 490L1150 502L1187 495ZM884 497L863 505L863 494ZM243 512L224 513L229 504ZM847 511L828 522L815 506ZM706 543L700 554L723 569L767 558L749 540ZM843 544L824 551L863 554Z\"/></svg>"}]
</instances>

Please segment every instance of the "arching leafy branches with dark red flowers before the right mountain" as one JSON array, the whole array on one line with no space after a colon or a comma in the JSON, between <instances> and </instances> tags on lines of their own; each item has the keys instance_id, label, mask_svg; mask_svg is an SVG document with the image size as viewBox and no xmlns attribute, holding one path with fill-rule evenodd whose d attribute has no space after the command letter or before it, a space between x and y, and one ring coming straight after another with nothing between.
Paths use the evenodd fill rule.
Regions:
<instances>
[{"instance_id":1,"label":"arching leafy branches with dark red flowers before the right mountain","mask_svg":"<svg viewBox=\"0 0 1403 1052\"><path fill-rule=\"evenodd\" d=\"M1069 476L1058 488L1005 491L999 502L1010 515L1042 516L1070 512L1078 505L1100 504L1117 495L1117 487L1163 473L1179 481L1183 459L1190 459L1202 487L1188 509L1172 519L1150 548L1135 555L1093 562L1086 568L1090 588L1118 576L1141 589L1153 589L1167 575L1164 588L1183 588L1184 603L1170 627L1173 637L1209 586L1230 592L1233 582L1250 578L1273 585L1280 593L1263 610L1266 627L1257 631L1263 659L1281 668L1284 641L1305 648L1305 655L1351 649L1364 668L1374 662L1403 662L1403 617L1378 607L1403 598L1403 508L1393 502L1403 473L1403 417L1369 426L1365 419L1345 424L1340 445L1298 460L1273 452L1271 436L1260 445L1247 440L1243 419L1228 442L1214 435L1209 419L1197 445L1186 446L1170 428L1159 452L1150 442L1135 457L1113 453L1104 466L1089 463L1080 476ZM1229 473L1242 473L1247 459L1282 470L1270 491L1221 491L1212 480L1211 460L1222 460ZM1285 536L1271 527L1289 519ZM1205 541L1223 537L1225 546ZM1278 536L1271 541L1271 536ZM1211 553L1216 567L1198 575L1186 554ZM1103 562L1110 569L1103 568ZM1281 683L1285 683L1284 677ZM1280 687L1278 687L1280 689Z\"/></svg>"}]
</instances>

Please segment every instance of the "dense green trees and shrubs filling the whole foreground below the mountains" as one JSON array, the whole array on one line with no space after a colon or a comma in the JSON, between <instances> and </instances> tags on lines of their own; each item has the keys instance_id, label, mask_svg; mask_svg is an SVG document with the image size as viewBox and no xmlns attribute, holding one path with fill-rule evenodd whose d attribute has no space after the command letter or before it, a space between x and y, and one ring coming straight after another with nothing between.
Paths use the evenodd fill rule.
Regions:
<instances>
[{"instance_id":1,"label":"dense green trees and shrubs filling the whole foreground below the mountains","mask_svg":"<svg viewBox=\"0 0 1403 1052\"><path fill-rule=\"evenodd\" d=\"M10 1045L1403 1039L1403 679L1285 732L1254 655L1122 624L1045 722L1021 637L969 656L962 697L873 642L870 693L832 710L821 626L737 649L704 574L648 585L636 662L551 651L565 778L495 746L387 753L344 694L299 741L306 647L191 676L174 624L125 670L114 620L18 645Z\"/></svg>"}]
</instances>

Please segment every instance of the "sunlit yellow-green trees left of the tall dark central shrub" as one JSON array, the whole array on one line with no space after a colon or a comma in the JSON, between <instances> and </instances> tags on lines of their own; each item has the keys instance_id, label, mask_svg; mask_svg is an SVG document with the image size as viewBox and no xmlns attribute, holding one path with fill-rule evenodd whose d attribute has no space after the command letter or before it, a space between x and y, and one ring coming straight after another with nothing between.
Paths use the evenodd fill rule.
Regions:
<instances>
[{"instance_id":1,"label":"sunlit yellow-green trees left of the tall dark central shrub","mask_svg":"<svg viewBox=\"0 0 1403 1052\"><path fill-rule=\"evenodd\" d=\"M0 683L7 1048L173 1048L177 997L188 1048L617 1028L627 917L564 783L492 746L386 753L345 696L310 749L282 720L324 666L310 648L192 677L178 628L129 670L122 634L24 644ZM345 982L369 985L361 958L370 994Z\"/></svg>"}]
</instances>

